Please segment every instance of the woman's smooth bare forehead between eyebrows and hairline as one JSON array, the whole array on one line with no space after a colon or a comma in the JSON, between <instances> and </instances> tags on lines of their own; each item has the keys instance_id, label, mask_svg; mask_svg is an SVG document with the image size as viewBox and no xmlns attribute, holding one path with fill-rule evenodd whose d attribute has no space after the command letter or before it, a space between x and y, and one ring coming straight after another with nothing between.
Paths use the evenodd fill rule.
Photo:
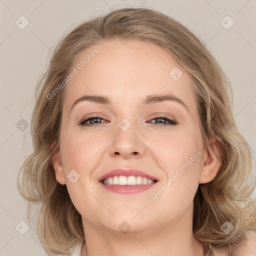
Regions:
<instances>
[{"instance_id":1,"label":"woman's smooth bare forehead between eyebrows and hairline","mask_svg":"<svg viewBox=\"0 0 256 256\"><path fill-rule=\"evenodd\" d=\"M148 94L171 93L196 105L186 71L154 43L106 40L81 52L73 68L77 74L65 88L64 107L70 108L83 94L107 95L113 103L125 100L137 105Z\"/></svg>"}]
</instances>

